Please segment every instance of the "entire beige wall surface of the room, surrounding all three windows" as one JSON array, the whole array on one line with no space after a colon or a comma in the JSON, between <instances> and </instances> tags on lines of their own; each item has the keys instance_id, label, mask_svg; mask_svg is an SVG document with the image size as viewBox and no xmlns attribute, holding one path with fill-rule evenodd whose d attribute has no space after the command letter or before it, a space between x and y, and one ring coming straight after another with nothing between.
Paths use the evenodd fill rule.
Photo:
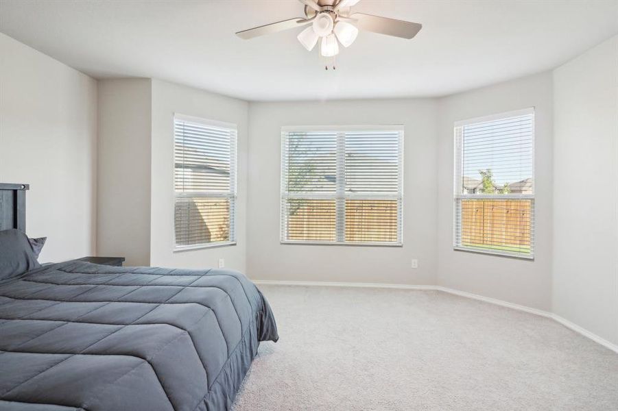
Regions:
<instances>
[{"instance_id":1,"label":"entire beige wall surface of the room, surrounding all three windows","mask_svg":"<svg viewBox=\"0 0 618 411\"><path fill-rule=\"evenodd\" d=\"M49 237L44 261L224 258L254 279L438 284L553 310L618 343L617 62L614 37L554 72L442 99L248 103L150 79L97 92L0 34L0 181L31 184L28 233ZM453 122L531 106L534 261L453 251ZM238 126L237 246L173 251L175 112ZM405 126L403 247L279 244L281 127L325 124Z\"/></svg>"}]
</instances>

